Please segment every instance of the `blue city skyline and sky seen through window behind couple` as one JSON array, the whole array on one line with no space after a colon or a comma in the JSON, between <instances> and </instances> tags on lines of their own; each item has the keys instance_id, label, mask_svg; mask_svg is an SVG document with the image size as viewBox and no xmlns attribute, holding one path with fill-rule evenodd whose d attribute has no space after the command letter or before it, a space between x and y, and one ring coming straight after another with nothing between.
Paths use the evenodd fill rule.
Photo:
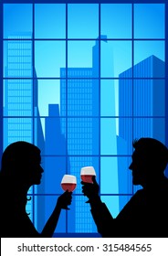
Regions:
<instances>
[{"instance_id":1,"label":"blue city skyline and sky seen through window behind couple","mask_svg":"<svg viewBox=\"0 0 168 256\"><path fill-rule=\"evenodd\" d=\"M77 9L81 12L81 7L68 6L71 26L74 26L75 21L70 20L70 16ZM41 185L30 187L28 194L31 200L26 206L29 218L38 230L44 227L57 197L63 193L60 187L62 176L77 176L77 188L73 192L70 210L62 212L58 221L58 236L59 233L67 236L70 233L97 233L89 204L85 203L87 198L81 193L81 167L94 166L100 184L101 199L115 217L140 188L132 186L131 173L128 171L132 141L149 136L165 143L165 63L162 44L157 48L158 44L163 42L156 40L158 37L163 38L163 35L150 36L155 38L152 46L155 42L157 49L154 48L152 53L149 50L147 55L140 51L134 55L134 61L131 62L131 42L118 40L118 45L117 41L112 45L109 28L104 31L102 29L102 32L106 33L98 36L99 30L96 27L99 19L97 20L95 11L98 6L95 4L85 7L86 12L89 8L95 12L94 24L89 31L90 40L79 40L81 37L88 38L88 35L76 34L75 27L74 30L68 30L68 37L72 40L63 40L65 34L60 27L58 34L53 36L55 40L49 40L49 31L47 35L39 29L39 16L41 14L42 20L43 5L37 5L35 8L35 22L37 20L38 24L35 26L35 34L40 40L35 40L34 33L28 29L27 24L25 30L17 24L16 31L14 27L6 26L4 32L4 149L8 144L24 140L36 144L41 150L45 172ZM112 7L114 10L121 10L121 15L124 12L131 15L131 5L111 4L102 5L102 17L107 9L113 12ZM135 11L138 9L137 16L141 13L141 7L138 9L138 6L135 6ZM153 8L155 7L159 8L162 17L163 5L153 5ZM63 26L65 6L54 5L54 8L57 13L60 11L58 18ZM144 9L147 10L148 6L144 6ZM23 11L22 16L25 12L28 19L32 20L29 14L31 5L5 5L4 10L4 19L10 12L15 16L15 13L18 15ZM149 10L152 12L152 8ZM50 5L47 5L47 11L49 16ZM18 17L18 21L22 16ZM49 17L47 19L49 20ZM129 23L129 19L127 22ZM136 22L138 23L138 18ZM129 24L131 25L131 20ZM105 25L106 23L102 23L102 27L106 27ZM130 29L126 31L127 35L114 33L113 37L131 38ZM142 37L146 38L145 35ZM49 50L41 56L47 42ZM134 48L139 47L138 43L141 41L135 42ZM148 41L144 41L145 43ZM82 59L79 59L83 56L78 54L82 51L82 46L84 49L81 54L86 55L88 61L82 62ZM54 53L55 48L58 49ZM125 48L128 48L126 57L128 54L129 59L115 66L116 48L123 48L118 55L119 62ZM45 55L52 53L52 50L53 55L47 56L47 59L51 58L51 63L42 63ZM60 59L59 52L57 60L56 53L59 50L62 57ZM70 58L71 51L74 59ZM53 56L56 59L53 60Z\"/></svg>"}]
</instances>

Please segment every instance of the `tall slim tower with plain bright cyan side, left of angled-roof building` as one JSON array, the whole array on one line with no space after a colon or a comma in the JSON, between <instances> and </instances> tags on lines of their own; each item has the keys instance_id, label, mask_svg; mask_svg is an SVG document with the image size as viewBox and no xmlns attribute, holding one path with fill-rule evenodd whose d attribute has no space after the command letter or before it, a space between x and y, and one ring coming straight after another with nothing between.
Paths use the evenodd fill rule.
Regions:
<instances>
[{"instance_id":1,"label":"tall slim tower with plain bright cyan side, left of angled-roof building","mask_svg":"<svg viewBox=\"0 0 168 256\"><path fill-rule=\"evenodd\" d=\"M114 84L113 51L106 35L101 35L92 49L93 88L99 116L100 136L100 193L112 215L119 213L119 180L117 157L116 94ZM95 130L99 131L98 126ZM111 194L116 194L112 196Z\"/></svg>"}]
</instances>

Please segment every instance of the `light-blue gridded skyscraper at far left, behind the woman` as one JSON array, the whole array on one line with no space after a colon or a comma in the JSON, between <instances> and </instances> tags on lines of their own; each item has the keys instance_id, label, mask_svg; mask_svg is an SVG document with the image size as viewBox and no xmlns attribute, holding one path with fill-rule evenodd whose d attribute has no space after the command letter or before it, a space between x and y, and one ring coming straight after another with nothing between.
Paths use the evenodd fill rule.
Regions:
<instances>
[{"instance_id":1,"label":"light-blue gridded skyscraper at far left, behind the woman","mask_svg":"<svg viewBox=\"0 0 168 256\"><path fill-rule=\"evenodd\" d=\"M5 45L4 149L16 141L44 144L37 120L37 74L32 62L32 35L19 33L8 38ZM30 187L28 193L33 191L34 187ZM32 197L26 205L32 220L35 220L34 200Z\"/></svg>"}]
</instances>

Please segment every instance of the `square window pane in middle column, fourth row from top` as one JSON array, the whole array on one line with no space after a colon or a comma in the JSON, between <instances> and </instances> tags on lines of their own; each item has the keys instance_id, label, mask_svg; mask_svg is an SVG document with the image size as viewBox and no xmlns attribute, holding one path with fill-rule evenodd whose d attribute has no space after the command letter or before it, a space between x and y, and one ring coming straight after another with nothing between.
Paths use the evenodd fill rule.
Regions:
<instances>
[{"instance_id":1,"label":"square window pane in middle column, fourth row from top","mask_svg":"<svg viewBox=\"0 0 168 256\"><path fill-rule=\"evenodd\" d=\"M98 155L99 123L97 118L68 118L68 154Z\"/></svg>"}]
</instances>

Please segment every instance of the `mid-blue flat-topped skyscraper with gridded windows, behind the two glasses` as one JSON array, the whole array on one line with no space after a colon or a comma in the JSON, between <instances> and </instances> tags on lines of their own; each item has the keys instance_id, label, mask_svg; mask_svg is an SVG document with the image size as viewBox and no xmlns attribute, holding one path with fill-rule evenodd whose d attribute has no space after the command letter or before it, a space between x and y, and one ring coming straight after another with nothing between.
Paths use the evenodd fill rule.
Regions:
<instances>
[{"instance_id":1,"label":"mid-blue flat-topped skyscraper with gridded windows, behind the two glasses","mask_svg":"<svg viewBox=\"0 0 168 256\"><path fill-rule=\"evenodd\" d=\"M66 69L60 69L60 116L62 118L63 133L68 141L68 155L70 174L77 176L78 186L73 192L81 194L80 168L93 165L98 168L98 121L93 112L98 106L94 105L94 89L91 68L68 68L68 82ZM67 96L67 98L66 98ZM98 111L98 110L97 110ZM89 213L89 206L85 204L83 196L74 197L75 200L75 227L69 232L94 232L96 230Z\"/></svg>"}]
</instances>

